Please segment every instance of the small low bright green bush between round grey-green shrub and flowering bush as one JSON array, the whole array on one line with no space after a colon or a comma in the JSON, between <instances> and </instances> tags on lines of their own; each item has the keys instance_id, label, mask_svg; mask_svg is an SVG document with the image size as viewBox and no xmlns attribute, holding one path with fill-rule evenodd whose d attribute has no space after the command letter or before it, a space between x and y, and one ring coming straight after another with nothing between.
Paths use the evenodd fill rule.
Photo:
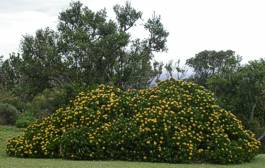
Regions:
<instances>
[{"instance_id":1,"label":"small low bright green bush between round grey-green shrub and flowering bush","mask_svg":"<svg viewBox=\"0 0 265 168\"><path fill-rule=\"evenodd\" d=\"M18 116L16 120L16 127L26 128L33 121L35 121L33 114L31 112L24 112Z\"/></svg>"}]
</instances>

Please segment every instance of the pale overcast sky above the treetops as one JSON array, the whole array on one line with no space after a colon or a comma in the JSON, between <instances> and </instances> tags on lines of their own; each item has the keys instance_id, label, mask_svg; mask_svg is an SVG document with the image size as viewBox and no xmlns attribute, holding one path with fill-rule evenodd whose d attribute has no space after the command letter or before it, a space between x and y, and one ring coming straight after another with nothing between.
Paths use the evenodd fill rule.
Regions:
<instances>
[{"instance_id":1,"label":"pale overcast sky above the treetops","mask_svg":"<svg viewBox=\"0 0 265 168\"><path fill-rule=\"evenodd\" d=\"M60 11L70 0L1 0L0 55L19 51L22 35L39 28L56 29ZM126 0L81 0L92 10L112 7ZM131 0L144 19L155 11L169 31L168 52L159 61L193 57L202 50L232 49L243 62L265 58L264 0ZM142 32L135 32L142 36Z\"/></svg>"}]
</instances>

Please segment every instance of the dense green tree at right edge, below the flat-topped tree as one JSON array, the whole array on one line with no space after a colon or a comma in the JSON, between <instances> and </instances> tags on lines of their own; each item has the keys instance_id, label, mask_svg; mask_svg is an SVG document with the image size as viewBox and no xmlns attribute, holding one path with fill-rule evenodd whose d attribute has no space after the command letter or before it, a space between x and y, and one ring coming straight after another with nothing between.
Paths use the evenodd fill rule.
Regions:
<instances>
[{"instance_id":1,"label":"dense green tree at right edge, below the flat-topped tree","mask_svg":"<svg viewBox=\"0 0 265 168\"><path fill-rule=\"evenodd\" d=\"M235 112L249 128L265 126L264 59L250 61L236 72L215 75L207 85L221 105Z\"/></svg>"}]
</instances>

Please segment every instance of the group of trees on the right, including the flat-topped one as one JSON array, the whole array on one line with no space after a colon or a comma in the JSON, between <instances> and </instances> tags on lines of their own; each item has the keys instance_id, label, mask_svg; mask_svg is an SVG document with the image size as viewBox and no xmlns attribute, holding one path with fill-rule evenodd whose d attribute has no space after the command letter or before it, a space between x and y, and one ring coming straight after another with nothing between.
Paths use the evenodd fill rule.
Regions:
<instances>
[{"instance_id":1,"label":"group of trees on the right, including the flat-topped one","mask_svg":"<svg viewBox=\"0 0 265 168\"><path fill-rule=\"evenodd\" d=\"M190 80L213 91L218 104L236 114L258 136L264 131L265 60L240 65L233 51L203 51L187 64L194 68Z\"/></svg>"}]
</instances>

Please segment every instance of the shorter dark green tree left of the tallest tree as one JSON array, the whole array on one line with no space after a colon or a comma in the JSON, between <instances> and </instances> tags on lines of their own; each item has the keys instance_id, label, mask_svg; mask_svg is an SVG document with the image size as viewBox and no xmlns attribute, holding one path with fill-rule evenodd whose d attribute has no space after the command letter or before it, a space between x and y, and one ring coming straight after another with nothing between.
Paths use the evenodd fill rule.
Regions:
<instances>
[{"instance_id":1,"label":"shorter dark green tree left of the tallest tree","mask_svg":"<svg viewBox=\"0 0 265 168\"><path fill-rule=\"evenodd\" d=\"M35 36L24 36L21 53L11 54L3 63L3 71L5 86L25 100L60 84L65 65L58 52L57 34L46 28Z\"/></svg>"}]
</instances>

